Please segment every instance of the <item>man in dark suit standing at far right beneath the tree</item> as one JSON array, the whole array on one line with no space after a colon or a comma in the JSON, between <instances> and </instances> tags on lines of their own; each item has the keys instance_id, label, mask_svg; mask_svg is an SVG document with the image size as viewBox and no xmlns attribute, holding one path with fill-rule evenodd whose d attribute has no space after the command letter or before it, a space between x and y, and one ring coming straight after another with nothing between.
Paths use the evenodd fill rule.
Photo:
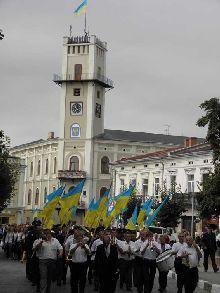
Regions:
<instances>
[{"instance_id":1,"label":"man in dark suit standing at far right beneath the tree","mask_svg":"<svg viewBox=\"0 0 220 293\"><path fill-rule=\"evenodd\" d=\"M216 237L215 233L212 232L211 227L207 227L207 232L202 235L201 239L202 248L204 251L204 270L207 272L208 270L208 258L210 256L212 261L212 267L214 272L218 272L219 268L216 265L215 262L215 252L217 250L217 244L216 244Z\"/></svg>"}]
</instances>

